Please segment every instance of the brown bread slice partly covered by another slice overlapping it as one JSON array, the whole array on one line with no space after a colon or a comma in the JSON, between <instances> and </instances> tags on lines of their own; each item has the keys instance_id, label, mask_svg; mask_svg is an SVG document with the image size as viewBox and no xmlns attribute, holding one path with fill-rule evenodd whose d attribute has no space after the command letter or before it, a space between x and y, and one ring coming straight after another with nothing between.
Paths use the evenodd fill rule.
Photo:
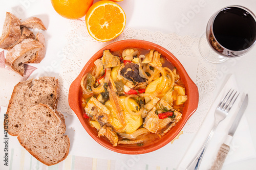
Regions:
<instances>
[{"instance_id":1,"label":"brown bread slice partly covered by another slice overlapping it","mask_svg":"<svg viewBox=\"0 0 256 170\"><path fill-rule=\"evenodd\" d=\"M59 83L53 77L40 77L19 82L13 89L7 108L8 133L17 136L24 125L24 115L30 107L39 103L56 109L59 99ZM62 118L63 119L63 118Z\"/></svg>"}]
</instances>

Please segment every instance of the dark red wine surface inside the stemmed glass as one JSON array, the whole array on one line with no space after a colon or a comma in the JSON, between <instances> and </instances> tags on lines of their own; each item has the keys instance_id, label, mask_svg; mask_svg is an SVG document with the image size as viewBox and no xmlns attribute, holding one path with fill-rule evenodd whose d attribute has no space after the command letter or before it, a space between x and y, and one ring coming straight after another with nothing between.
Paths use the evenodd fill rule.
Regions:
<instances>
[{"instance_id":1,"label":"dark red wine surface inside the stemmed glass","mask_svg":"<svg viewBox=\"0 0 256 170\"><path fill-rule=\"evenodd\" d=\"M256 22L247 11L228 7L216 16L213 34L219 44L228 50L242 51L256 40Z\"/></svg>"}]
</instances>

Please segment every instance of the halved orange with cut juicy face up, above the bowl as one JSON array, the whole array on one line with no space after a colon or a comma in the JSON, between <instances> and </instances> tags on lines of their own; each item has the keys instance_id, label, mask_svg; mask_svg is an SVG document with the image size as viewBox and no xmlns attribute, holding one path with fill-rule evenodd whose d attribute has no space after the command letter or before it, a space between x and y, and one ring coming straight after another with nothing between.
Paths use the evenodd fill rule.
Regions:
<instances>
[{"instance_id":1,"label":"halved orange with cut juicy face up, above the bowl","mask_svg":"<svg viewBox=\"0 0 256 170\"><path fill-rule=\"evenodd\" d=\"M118 37L125 27L123 9L112 1L94 3L86 14L89 34L98 41L110 41Z\"/></svg>"}]
</instances>

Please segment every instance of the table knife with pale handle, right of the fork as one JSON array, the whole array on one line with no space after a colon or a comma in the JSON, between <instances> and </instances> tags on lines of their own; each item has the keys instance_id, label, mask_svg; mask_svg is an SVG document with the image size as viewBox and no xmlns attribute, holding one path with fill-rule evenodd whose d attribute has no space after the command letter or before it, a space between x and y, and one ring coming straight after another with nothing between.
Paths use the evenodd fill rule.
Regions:
<instances>
[{"instance_id":1,"label":"table knife with pale handle, right of the fork","mask_svg":"<svg viewBox=\"0 0 256 170\"><path fill-rule=\"evenodd\" d=\"M222 165L223 165L223 163L227 157L227 154L229 152L229 149L230 149L229 145L232 141L234 132L236 132L236 130L237 130L237 127L239 125L239 122L244 114L244 111L245 111L247 105L248 105L248 94L245 95L245 98L244 98L243 103L237 113L237 116L234 119L234 122L228 131L227 138L226 138L225 142L222 143L222 145L218 151L217 157L214 161L214 164L211 166L210 170L220 170L222 168Z\"/></svg>"}]
</instances>

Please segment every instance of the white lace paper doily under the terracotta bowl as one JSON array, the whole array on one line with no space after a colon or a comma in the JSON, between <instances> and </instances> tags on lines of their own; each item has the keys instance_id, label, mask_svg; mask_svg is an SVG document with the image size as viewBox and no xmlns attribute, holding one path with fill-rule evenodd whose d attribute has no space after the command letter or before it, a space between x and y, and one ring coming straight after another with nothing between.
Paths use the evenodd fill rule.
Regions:
<instances>
[{"instance_id":1,"label":"white lace paper doily under the terracotta bowl","mask_svg":"<svg viewBox=\"0 0 256 170\"><path fill-rule=\"evenodd\" d=\"M197 132L214 101L213 92L216 88L215 81L217 77L216 65L207 62L200 55L199 38L179 36L175 33L163 34L161 32L125 28L116 39L109 42L98 42L89 35L84 21L69 20L69 25L71 30L67 34L68 43L63 48L65 58L62 60L58 78L61 85L58 109L61 112L70 115L75 114L68 103L69 87L94 53L115 41L140 39L163 46L177 58L178 56L189 56L198 60L195 83L199 89L199 106L182 129L184 133Z\"/></svg>"}]
</instances>

